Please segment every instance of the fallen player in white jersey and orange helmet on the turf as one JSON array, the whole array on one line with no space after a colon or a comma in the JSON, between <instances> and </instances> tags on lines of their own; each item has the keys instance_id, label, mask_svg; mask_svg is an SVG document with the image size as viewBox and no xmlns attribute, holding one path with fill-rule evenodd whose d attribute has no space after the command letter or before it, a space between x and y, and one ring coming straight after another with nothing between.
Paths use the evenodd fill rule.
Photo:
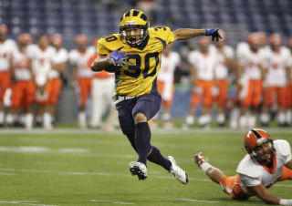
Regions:
<instances>
[{"instance_id":1,"label":"fallen player in white jersey and orange helmet on the turf","mask_svg":"<svg viewBox=\"0 0 292 206\"><path fill-rule=\"evenodd\" d=\"M245 150L247 154L233 177L225 176L209 164L202 152L194 159L206 175L235 200L247 200L256 195L266 203L292 205L292 199L280 199L267 190L276 181L292 180L292 155L287 140L273 141L265 130L250 129L245 135Z\"/></svg>"}]
</instances>

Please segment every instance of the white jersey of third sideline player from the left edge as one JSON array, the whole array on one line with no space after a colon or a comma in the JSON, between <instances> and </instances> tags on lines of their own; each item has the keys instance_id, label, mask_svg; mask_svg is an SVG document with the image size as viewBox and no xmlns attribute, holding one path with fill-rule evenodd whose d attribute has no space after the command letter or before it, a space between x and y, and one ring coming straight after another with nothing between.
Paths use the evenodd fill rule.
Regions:
<instances>
[{"instance_id":1,"label":"white jersey of third sideline player from the left edge","mask_svg":"<svg viewBox=\"0 0 292 206\"><path fill-rule=\"evenodd\" d=\"M27 55L32 59L37 86L44 86L46 84L48 72L52 69L51 63L55 57L55 52L55 48L52 46L41 49L37 45L32 45L27 48Z\"/></svg>"}]
</instances>

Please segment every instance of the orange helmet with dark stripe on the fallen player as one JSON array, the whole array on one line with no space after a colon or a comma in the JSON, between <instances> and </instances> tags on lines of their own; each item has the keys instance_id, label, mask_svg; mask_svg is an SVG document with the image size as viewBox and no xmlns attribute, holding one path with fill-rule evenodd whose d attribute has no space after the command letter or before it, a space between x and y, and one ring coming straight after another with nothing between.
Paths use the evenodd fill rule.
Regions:
<instances>
[{"instance_id":1,"label":"orange helmet with dark stripe on the fallen player","mask_svg":"<svg viewBox=\"0 0 292 206\"><path fill-rule=\"evenodd\" d=\"M268 153L259 156L255 152L255 149L262 147L266 143L269 143L270 146ZM245 150L255 162L265 163L269 161L269 154L275 151L273 139L271 139L269 134L263 129L250 129L245 135Z\"/></svg>"}]
</instances>

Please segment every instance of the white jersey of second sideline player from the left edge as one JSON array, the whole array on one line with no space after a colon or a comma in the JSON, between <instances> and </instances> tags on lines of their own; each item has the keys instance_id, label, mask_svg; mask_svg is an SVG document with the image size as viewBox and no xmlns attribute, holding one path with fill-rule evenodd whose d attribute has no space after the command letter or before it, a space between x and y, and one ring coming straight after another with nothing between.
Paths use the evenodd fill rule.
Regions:
<instances>
[{"instance_id":1,"label":"white jersey of second sideline player from the left edge","mask_svg":"<svg viewBox=\"0 0 292 206\"><path fill-rule=\"evenodd\" d=\"M17 49L13 53L13 64L15 67L16 80L28 81L31 80L31 73L29 70L29 57L26 52L21 52Z\"/></svg>"}]
</instances>

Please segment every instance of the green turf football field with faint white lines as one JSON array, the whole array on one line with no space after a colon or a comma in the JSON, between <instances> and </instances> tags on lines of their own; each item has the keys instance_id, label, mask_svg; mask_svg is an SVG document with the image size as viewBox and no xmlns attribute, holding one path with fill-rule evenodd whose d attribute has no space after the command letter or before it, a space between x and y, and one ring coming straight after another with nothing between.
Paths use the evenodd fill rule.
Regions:
<instances>
[{"instance_id":1,"label":"green turf football field with faint white lines","mask_svg":"<svg viewBox=\"0 0 292 206\"><path fill-rule=\"evenodd\" d=\"M273 139L292 144L291 129L268 131ZM137 155L120 132L1 130L0 205L261 205L256 198L232 201L193 163L193 154L202 150L210 163L234 175L245 155L244 133L154 131L152 144L188 171L190 182L183 185L151 162L147 180L130 176L128 163ZM270 192L291 199L291 181L278 182Z\"/></svg>"}]
</instances>

